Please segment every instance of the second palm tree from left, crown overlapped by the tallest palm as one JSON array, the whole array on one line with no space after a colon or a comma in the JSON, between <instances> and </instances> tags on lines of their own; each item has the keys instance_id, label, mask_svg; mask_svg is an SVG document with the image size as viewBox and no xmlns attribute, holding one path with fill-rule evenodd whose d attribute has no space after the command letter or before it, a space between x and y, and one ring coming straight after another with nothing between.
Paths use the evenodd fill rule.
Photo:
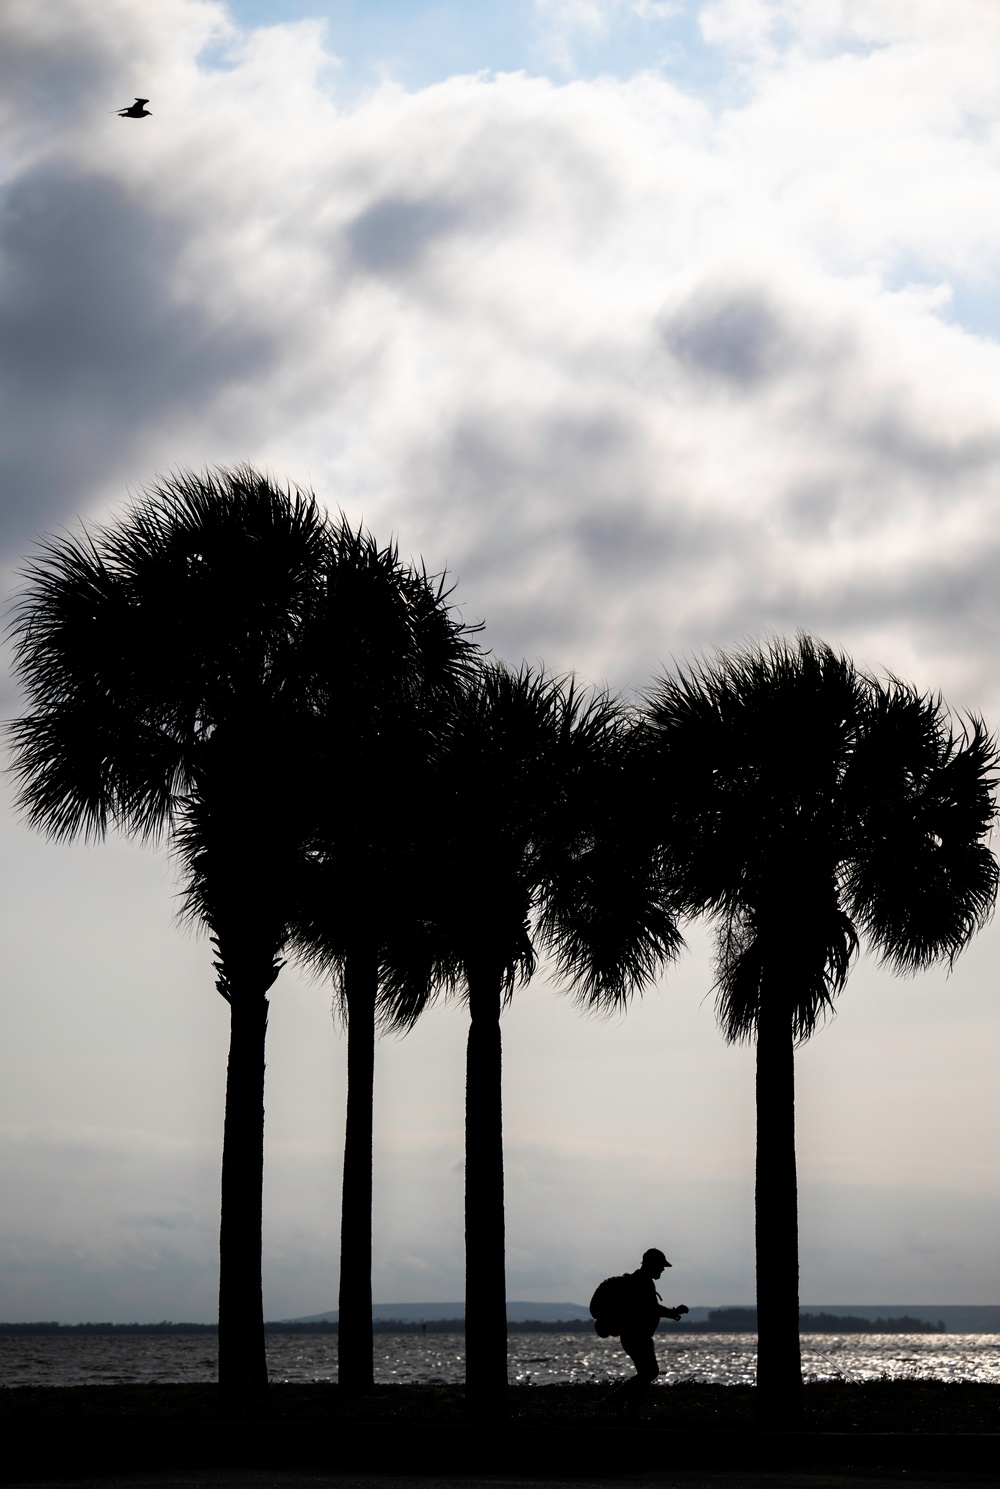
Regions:
<instances>
[{"instance_id":1,"label":"second palm tree from left, crown overlapped by the tallest palm","mask_svg":"<svg viewBox=\"0 0 1000 1489\"><path fill-rule=\"evenodd\" d=\"M451 698L476 655L443 576L344 526L330 585L321 771L290 946L333 977L347 1026L338 1380L374 1386L372 1083L376 1027L408 1029L430 996L412 956L409 901L426 834L421 794ZM420 831L418 829L420 825ZM391 993L381 968L394 968Z\"/></svg>"}]
</instances>

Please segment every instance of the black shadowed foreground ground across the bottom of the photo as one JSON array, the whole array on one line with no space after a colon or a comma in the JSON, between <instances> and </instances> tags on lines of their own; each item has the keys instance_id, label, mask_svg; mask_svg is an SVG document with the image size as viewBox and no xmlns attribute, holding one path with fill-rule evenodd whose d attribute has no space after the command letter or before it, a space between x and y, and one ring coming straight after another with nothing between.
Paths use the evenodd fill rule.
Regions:
<instances>
[{"instance_id":1,"label":"black shadowed foreground ground across the bottom of the photo","mask_svg":"<svg viewBox=\"0 0 1000 1489\"><path fill-rule=\"evenodd\" d=\"M271 1388L226 1422L216 1388L0 1389L0 1479L60 1489L979 1489L1000 1482L1000 1386L807 1386L795 1431L749 1386L673 1385L622 1419L609 1385L515 1386L510 1419L463 1419L454 1386Z\"/></svg>"}]
</instances>

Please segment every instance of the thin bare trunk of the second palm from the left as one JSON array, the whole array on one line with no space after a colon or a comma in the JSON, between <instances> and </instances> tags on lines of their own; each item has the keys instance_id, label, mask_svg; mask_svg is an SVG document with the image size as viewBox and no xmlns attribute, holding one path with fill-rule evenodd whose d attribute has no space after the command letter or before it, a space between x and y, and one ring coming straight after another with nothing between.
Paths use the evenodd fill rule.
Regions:
<instances>
[{"instance_id":1,"label":"thin bare trunk of the second palm from the left","mask_svg":"<svg viewBox=\"0 0 1000 1489\"><path fill-rule=\"evenodd\" d=\"M344 972L347 999L347 1132L341 1208L341 1298L338 1380L363 1395L375 1386L372 1339L372 1118L378 957L351 951Z\"/></svg>"}]
</instances>

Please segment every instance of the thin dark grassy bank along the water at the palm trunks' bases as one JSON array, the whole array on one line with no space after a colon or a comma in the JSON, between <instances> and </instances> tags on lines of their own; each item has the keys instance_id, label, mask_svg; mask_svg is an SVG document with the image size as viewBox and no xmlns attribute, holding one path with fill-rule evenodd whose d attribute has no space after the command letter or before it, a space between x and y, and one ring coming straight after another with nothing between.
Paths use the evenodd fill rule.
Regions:
<instances>
[{"instance_id":1,"label":"thin dark grassy bank along the water at the palm trunks' bases","mask_svg":"<svg viewBox=\"0 0 1000 1489\"><path fill-rule=\"evenodd\" d=\"M208 1421L217 1412L213 1385L12 1386L0 1391L0 1422ZM315 1422L460 1422L460 1386L378 1386L372 1395L341 1400L335 1385L272 1385L268 1419ZM512 1423L598 1426L621 1422L609 1385L513 1386ZM658 1386L640 1422L674 1429L756 1426L751 1386L680 1383ZM997 1432L1000 1385L942 1380L824 1382L805 1388L807 1431L823 1432Z\"/></svg>"}]
</instances>

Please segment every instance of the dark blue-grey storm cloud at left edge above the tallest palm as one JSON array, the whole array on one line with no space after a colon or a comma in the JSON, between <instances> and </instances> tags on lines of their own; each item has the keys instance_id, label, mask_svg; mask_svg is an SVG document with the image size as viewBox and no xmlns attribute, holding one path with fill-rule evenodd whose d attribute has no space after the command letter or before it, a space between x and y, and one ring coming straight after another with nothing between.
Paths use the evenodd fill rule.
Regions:
<instances>
[{"instance_id":1,"label":"dark blue-grey storm cloud at left edge above the tallest palm","mask_svg":"<svg viewBox=\"0 0 1000 1489\"><path fill-rule=\"evenodd\" d=\"M40 167L3 195L4 546L86 506L152 426L266 374L265 334L214 325L171 292L183 246L107 177Z\"/></svg>"}]
</instances>

